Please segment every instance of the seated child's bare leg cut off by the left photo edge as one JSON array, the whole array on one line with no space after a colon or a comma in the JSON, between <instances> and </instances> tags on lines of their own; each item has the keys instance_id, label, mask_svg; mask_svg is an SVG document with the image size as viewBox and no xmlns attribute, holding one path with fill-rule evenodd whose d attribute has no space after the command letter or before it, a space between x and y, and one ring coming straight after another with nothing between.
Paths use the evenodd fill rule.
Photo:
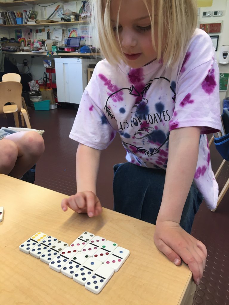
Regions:
<instances>
[{"instance_id":1,"label":"seated child's bare leg cut off by the left photo edge","mask_svg":"<svg viewBox=\"0 0 229 305\"><path fill-rule=\"evenodd\" d=\"M2 139L0 141L0 173L8 175L17 160L17 145L10 141Z\"/></svg>"}]
</instances>

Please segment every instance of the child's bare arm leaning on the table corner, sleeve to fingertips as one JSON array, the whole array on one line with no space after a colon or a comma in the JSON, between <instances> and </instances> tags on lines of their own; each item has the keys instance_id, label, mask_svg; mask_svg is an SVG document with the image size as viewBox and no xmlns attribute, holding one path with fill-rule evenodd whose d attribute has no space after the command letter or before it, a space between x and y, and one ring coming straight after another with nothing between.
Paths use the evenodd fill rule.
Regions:
<instances>
[{"instance_id":1,"label":"child's bare arm leaning on the table corner, sleeve to fingertips","mask_svg":"<svg viewBox=\"0 0 229 305\"><path fill-rule=\"evenodd\" d=\"M199 138L200 127L170 132L165 186L154 234L158 249L176 265L183 259L197 284L203 275L207 250L180 227L180 218L196 170Z\"/></svg>"}]
</instances>

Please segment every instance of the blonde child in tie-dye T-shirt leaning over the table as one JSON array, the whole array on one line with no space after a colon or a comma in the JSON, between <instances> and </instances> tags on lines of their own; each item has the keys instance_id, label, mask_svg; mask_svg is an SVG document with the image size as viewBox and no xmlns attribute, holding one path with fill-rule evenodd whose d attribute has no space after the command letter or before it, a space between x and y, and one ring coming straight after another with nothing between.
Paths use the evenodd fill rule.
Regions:
<instances>
[{"instance_id":1,"label":"blonde child in tie-dye T-shirt leaning over the table","mask_svg":"<svg viewBox=\"0 0 229 305\"><path fill-rule=\"evenodd\" d=\"M91 8L105 59L70 133L80 143L77 193L62 209L102 213L100 153L119 133L127 162L114 167L114 210L156 224L158 249L184 260L199 284L207 250L191 226L203 198L213 209L218 196L206 138L220 130L211 39L196 29L194 0L91 0Z\"/></svg>"}]
</instances>

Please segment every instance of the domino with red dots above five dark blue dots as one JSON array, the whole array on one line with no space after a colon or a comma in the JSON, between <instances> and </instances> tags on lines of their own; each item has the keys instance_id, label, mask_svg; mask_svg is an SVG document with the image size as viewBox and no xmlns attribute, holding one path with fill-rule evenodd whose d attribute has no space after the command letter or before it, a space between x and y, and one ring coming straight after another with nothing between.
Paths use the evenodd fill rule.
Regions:
<instances>
[{"instance_id":1,"label":"domino with red dots above five dark blue dots","mask_svg":"<svg viewBox=\"0 0 229 305\"><path fill-rule=\"evenodd\" d=\"M49 263L49 267L57 272L60 272L68 261L71 260L72 256L76 255L77 252L78 250L72 247L65 248Z\"/></svg>"}]
</instances>

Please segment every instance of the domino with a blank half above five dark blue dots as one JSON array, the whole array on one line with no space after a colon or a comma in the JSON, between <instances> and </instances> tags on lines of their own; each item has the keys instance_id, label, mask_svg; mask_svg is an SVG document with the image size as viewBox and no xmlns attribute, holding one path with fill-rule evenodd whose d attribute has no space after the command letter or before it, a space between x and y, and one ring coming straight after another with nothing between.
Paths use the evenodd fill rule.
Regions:
<instances>
[{"instance_id":1,"label":"domino with a blank half above five dark blue dots","mask_svg":"<svg viewBox=\"0 0 229 305\"><path fill-rule=\"evenodd\" d=\"M114 274L114 269L104 264L87 280L85 288L93 293L99 293Z\"/></svg>"}]
</instances>

